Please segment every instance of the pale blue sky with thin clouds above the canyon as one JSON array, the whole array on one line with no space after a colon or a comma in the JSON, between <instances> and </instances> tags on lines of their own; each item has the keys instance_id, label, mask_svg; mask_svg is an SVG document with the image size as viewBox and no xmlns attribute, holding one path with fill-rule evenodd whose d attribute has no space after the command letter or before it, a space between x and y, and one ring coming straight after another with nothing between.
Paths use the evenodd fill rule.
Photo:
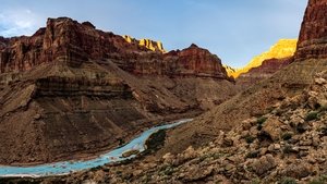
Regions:
<instances>
[{"instance_id":1,"label":"pale blue sky with thin clouds above the canyon","mask_svg":"<svg viewBox=\"0 0 327 184\"><path fill-rule=\"evenodd\" d=\"M191 44L222 63L245 65L281 38L298 38L307 0L1 0L0 36L33 35L47 17L89 21L97 28L164 42Z\"/></svg>"}]
</instances>

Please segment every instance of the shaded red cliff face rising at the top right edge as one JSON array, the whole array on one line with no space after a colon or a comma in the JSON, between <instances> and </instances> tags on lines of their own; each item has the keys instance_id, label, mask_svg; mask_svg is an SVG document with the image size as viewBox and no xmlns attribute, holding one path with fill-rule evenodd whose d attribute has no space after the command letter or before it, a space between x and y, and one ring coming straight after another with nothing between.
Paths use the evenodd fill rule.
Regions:
<instances>
[{"instance_id":1,"label":"shaded red cliff face rising at the top right edge","mask_svg":"<svg viewBox=\"0 0 327 184\"><path fill-rule=\"evenodd\" d=\"M327 58L327 0L310 0L302 23L296 61Z\"/></svg>"}]
</instances>

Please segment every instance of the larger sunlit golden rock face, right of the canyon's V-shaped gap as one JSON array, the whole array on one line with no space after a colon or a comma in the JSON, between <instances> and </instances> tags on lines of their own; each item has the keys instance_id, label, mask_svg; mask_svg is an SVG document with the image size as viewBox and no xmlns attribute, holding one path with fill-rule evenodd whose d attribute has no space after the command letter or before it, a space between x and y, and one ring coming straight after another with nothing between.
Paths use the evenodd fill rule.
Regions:
<instances>
[{"instance_id":1,"label":"larger sunlit golden rock face, right of the canyon's V-shaped gap","mask_svg":"<svg viewBox=\"0 0 327 184\"><path fill-rule=\"evenodd\" d=\"M296 50L296 39L280 39L276 45L274 45L268 51L256 56L250 63L243 69L237 70L230 75L238 78L241 74L247 73L253 68L259 68L264 61L270 59L284 59L292 57Z\"/></svg>"}]
</instances>

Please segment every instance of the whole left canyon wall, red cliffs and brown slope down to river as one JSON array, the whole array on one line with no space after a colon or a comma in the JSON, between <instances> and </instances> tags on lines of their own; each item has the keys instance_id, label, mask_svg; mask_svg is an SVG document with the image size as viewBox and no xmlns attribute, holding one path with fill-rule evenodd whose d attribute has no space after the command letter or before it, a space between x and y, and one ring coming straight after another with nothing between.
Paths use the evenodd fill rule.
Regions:
<instances>
[{"instance_id":1,"label":"whole left canyon wall, red cliffs and brown slope down to river","mask_svg":"<svg viewBox=\"0 0 327 184\"><path fill-rule=\"evenodd\" d=\"M68 17L0 41L1 164L94 156L235 94L194 45L162 53Z\"/></svg>"}]
</instances>

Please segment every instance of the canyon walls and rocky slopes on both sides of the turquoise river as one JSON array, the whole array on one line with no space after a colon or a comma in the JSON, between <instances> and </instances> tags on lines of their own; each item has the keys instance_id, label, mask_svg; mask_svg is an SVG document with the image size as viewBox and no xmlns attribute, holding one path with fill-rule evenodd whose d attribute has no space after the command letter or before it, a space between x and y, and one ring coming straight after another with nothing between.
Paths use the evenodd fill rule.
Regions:
<instances>
[{"instance_id":1,"label":"canyon walls and rocky slopes on both sides of the turquoise river","mask_svg":"<svg viewBox=\"0 0 327 184\"><path fill-rule=\"evenodd\" d=\"M0 38L0 163L93 155L197 115L167 130L150 155L27 181L325 183L326 14L327 0L308 0L299 39L241 70L194 44L167 52L66 17L32 37Z\"/></svg>"}]
</instances>

